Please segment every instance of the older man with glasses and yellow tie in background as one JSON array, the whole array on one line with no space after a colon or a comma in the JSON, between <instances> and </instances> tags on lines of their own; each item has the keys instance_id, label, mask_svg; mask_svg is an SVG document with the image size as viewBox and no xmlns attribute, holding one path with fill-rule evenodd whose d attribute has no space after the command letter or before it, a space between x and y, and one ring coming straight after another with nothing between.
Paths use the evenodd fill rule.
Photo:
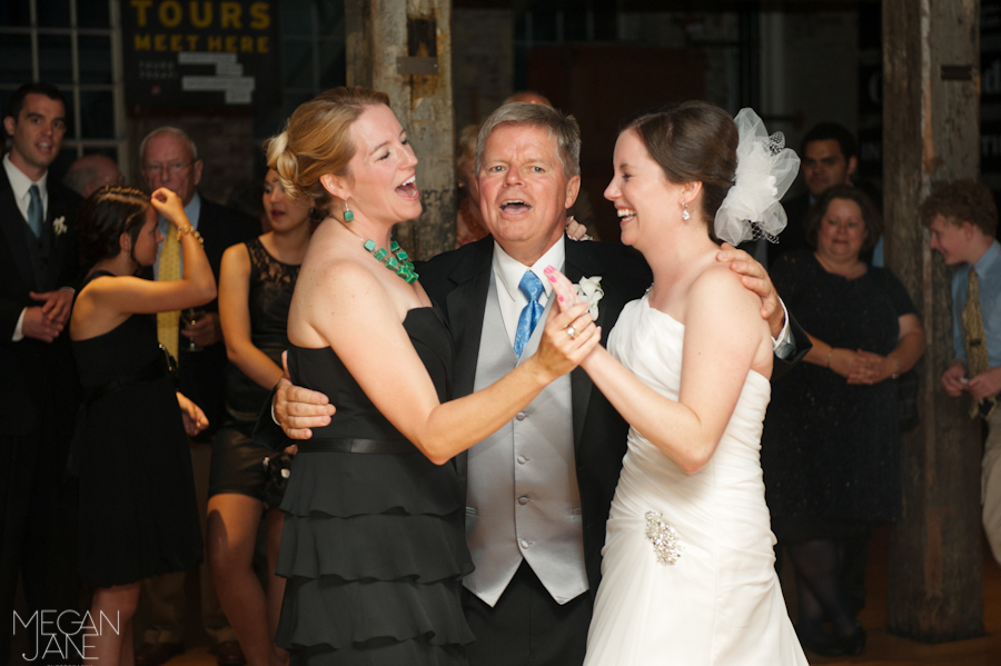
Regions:
<instances>
[{"instance_id":1,"label":"older man with glasses and yellow tie in background","mask_svg":"<svg viewBox=\"0 0 1001 666\"><path fill-rule=\"evenodd\" d=\"M248 215L214 203L198 193L202 162L198 148L186 132L174 127L151 131L139 147L142 178L150 190L166 187L172 190L185 206L191 226L201 235L205 254L219 280L222 252L229 246L249 240L260 233L260 222ZM163 248L171 242L174 227L160 219L160 233L167 239L152 267L153 279L178 279L184 269L180 258L177 265L163 266ZM169 261L169 259L168 259ZM167 272L171 271L172 277ZM209 427L199 435L199 441L208 441L211 433L225 418L222 377L226 367L226 345L219 325L219 307L216 300L201 308L204 312L196 324L186 324L180 314L158 315L160 342L178 361L179 390L195 400L209 419ZM195 346L198 350L190 350ZM201 510L205 515L205 507ZM244 663L244 656L219 607L211 585L209 568L201 567L201 615L206 632L215 640L215 652L221 666ZM146 584L150 599L153 627L146 632L145 643L136 654L139 666L158 666L184 650L185 574L156 576Z\"/></svg>"}]
</instances>

